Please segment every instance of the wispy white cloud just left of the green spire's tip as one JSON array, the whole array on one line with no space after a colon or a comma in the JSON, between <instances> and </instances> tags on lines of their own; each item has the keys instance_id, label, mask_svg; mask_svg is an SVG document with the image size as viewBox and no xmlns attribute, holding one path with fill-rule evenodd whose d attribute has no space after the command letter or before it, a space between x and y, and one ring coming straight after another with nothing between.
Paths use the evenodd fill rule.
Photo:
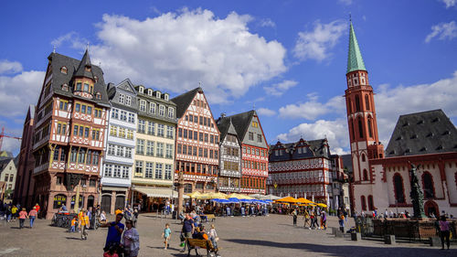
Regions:
<instances>
[{"instance_id":1,"label":"wispy white cloud just left of the green spire's tip","mask_svg":"<svg viewBox=\"0 0 457 257\"><path fill-rule=\"evenodd\" d=\"M347 23L335 20L328 24L321 24L319 20L314 22L313 31L298 33L298 39L293 48L293 55L297 59L315 59L322 61L331 56L330 49L334 48L338 39L343 36L347 29Z\"/></svg>"}]
</instances>

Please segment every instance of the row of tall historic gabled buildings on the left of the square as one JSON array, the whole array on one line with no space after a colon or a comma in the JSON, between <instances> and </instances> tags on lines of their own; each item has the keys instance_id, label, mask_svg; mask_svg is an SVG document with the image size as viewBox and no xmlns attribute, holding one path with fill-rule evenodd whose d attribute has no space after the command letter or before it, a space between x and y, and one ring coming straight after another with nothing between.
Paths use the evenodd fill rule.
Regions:
<instances>
[{"instance_id":1,"label":"row of tall historic gabled buildings on the left of the square","mask_svg":"<svg viewBox=\"0 0 457 257\"><path fill-rule=\"evenodd\" d=\"M185 191L266 191L268 151L255 111L215 119L202 88L173 99L131 80L105 84L86 50L58 53L24 123L16 202L47 218L66 205L159 209Z\"/></svg>"}]
</instances>

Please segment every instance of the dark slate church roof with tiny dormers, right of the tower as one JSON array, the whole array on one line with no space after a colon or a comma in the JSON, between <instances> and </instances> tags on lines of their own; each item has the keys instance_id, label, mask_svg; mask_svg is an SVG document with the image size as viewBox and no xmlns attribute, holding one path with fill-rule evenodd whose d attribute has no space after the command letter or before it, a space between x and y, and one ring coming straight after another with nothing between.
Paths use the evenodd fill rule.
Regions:
<instances>
[{"instance_id":1,"label":"dark slate church roof with tiny dormers, right of the tower","mask_svg":"<svg viewBox=\"0 0 457 257\"><path fill-rule=\"evenodd\" d=\"M386 155L457 152L457 130L444 112L433 110L399 116Z\"/></svg>"}]
</instances>

